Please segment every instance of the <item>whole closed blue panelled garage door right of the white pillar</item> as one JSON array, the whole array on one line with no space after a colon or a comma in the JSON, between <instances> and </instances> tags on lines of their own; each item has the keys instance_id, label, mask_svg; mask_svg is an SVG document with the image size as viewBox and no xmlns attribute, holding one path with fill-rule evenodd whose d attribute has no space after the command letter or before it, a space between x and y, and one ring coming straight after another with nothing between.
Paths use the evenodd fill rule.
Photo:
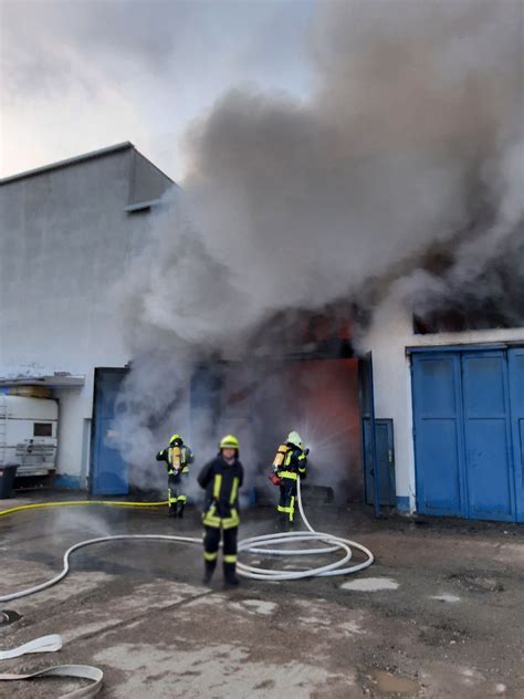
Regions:
<instances>
[{"instance_id":1,"label":"whole closed blue panelled garage door right of the white pillar","mask_svg":"<svg viewBox=\"0 0 524 699\"><path fill-rule=\"evenodd\" d=\"M524 364L524 353L520 357ZM515 413L522 392L510 399L510 383L518 371L524 382L518 357L512 363L505 349L413 355L420 512L520 519L514 447L515 435L522 430Z\"/></svg>"}]
</instances>

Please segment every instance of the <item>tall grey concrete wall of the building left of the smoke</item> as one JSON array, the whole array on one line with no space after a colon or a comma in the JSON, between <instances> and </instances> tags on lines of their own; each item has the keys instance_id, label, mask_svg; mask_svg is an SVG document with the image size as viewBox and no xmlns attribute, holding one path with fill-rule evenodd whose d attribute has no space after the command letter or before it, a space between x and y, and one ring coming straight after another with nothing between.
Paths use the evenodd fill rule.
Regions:
<instances>
[{"instance_id":1,"label":"tall grey concrete wall of the building left of the smoke","mask_svg":"<svg viewBox=\"0 0 524 699\"><path fill-rule=\"evenodd\" d=\"M94 368L129 361L111 291L148 216L125 207L169 186L129 147L0 187L0 375L85 375L84 386L55 390L66 484L86 476Z\"/></svg>"}]
</instances>

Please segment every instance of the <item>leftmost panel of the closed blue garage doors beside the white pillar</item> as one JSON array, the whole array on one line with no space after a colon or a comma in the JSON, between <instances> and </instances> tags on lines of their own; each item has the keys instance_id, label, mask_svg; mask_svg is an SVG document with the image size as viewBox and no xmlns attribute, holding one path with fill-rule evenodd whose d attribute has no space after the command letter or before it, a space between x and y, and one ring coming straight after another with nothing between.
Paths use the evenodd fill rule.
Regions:
<instances>
[{"instance_id":1,"label":"leftmost panel of the closed blue garage doors beside the white pillar","mask_svg":"<svg viewBox=\"0 0 524 699\"><path fill-rule=\"evenodd\" d=\"M412 377L417 510L462 514L459 357L416 355Z\"/></svg>"}]
</instances>

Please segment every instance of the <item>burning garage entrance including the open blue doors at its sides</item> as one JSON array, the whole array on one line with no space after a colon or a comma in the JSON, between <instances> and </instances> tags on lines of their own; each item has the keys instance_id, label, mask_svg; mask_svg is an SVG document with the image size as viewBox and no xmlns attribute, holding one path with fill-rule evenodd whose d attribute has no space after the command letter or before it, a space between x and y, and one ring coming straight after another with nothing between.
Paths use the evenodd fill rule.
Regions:
<instances>
[{"instance_id":1,"label":"burning garage entrance including the open blue doors at its sides","mask_svg":"<svg viewBox=\"0 0 524 699\"><path fill-rule=\"evenodd\" d=\"M219 372L202 367L191 392L191 444L205 449L222 434L237 435L242 460L252 467L250 484L258 500L265 501L274 499L268 478L276 448L296 429L311 450L308 490L336 504L375 504L378 473L379 505L390 505L395 503L392 447L380 438L379 424L377 439L371 439L369 369L370 357L230 363Z\"/></svg>"}]
</instances>

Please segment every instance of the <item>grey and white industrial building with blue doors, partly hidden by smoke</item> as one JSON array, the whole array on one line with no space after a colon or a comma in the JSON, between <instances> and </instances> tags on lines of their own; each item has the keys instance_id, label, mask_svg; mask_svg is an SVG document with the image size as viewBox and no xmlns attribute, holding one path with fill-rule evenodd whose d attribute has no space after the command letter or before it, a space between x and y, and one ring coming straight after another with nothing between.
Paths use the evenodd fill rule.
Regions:
<instances>
[{"instance_id":1,"label":"grey and white industrial building with blue doors, partly hidden by smoke","mask_svg":"<svg viewBox=\"0 0 524 699\"><path fill-rule=\"evenodd\" d=\"M59 487L127 492L111 435L132 357L111 289L174 187L129 143L0 181L0 379L4 390L49 387L59 401ZM310 321L287 378L306 396L308 377L325 387L306 403L346 435L352 499L524 521L524 328L421 334L411 311L388 299L355 356L350 332ZM198 407L206 390L197 379ZM263 409L263 382L254 393L233 386L220 407L224 426Z\"/></svg>"}]
</instances>

